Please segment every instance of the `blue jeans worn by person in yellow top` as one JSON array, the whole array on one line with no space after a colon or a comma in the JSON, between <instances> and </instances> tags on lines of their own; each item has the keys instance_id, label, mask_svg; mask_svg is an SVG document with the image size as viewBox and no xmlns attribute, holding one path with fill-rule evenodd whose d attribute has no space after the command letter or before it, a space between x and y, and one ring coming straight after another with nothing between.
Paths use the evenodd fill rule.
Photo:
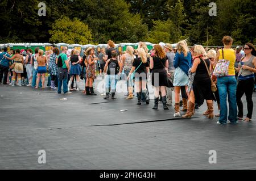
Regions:
<instances>
[{"instance_id":1,"label":"blue jeans worn by person in yellow top","mask_svg":"<svg viewBox=\"0 0 256 181\"><path fill-rule=\"evenodd\" d=\"M237 123L237 80L235 76L218 77L217 79L218 94L220 95L220 120L221 124L226 124L227 117L230 123ZM226 96L228 94L228 107L226 104Z\"/></svg>"}]
</instances>

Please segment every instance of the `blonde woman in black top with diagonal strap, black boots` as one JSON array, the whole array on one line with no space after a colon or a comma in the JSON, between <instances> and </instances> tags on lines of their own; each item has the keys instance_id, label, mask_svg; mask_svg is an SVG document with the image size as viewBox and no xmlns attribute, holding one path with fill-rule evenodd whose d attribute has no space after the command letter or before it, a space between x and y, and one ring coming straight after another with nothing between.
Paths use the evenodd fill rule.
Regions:
<instances>
[{"instance_id":1,"label":"blonde woman in black top with diagonal strap, black boots","mask_svg":"<svg viewBox=\"0 0 256 181\"><path fill-rule=\"evenodd\" d=\"M135 86L137 92L138 103L137 105L141 105L141 95L143 94L146 98L146 104L149 104L147 93L147 73L149 72L147 62L147 56L144 49L138 49L138 58L135 58L133 61L133 67L130 70L130 73L127 79L132 79L131 74L135 71Z\"/></svg>"}]
</instances>

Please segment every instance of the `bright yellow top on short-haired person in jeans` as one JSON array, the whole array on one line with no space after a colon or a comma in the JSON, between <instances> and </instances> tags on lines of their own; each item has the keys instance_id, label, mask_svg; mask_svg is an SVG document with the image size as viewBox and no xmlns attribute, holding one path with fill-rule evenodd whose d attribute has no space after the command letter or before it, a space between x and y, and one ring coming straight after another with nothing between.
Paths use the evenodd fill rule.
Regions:
<instances>
[{"instance_id":1,"label":"bright yellow top on short-haired person in jeans","mask_svg":"<svg viewBox=\"0 0 256 181\"><path fill-rule=\"evenodd\" d=\"M222 49L220 51L220 56L218 57L218 60L223 59L222 57ZM234 64L236 62L236 53L232 48L230 49L224 49L224 58L225 60L229 60L229 74L228 75L236 75L236 71L234 68Z\"/></svg>"}]
</instances>

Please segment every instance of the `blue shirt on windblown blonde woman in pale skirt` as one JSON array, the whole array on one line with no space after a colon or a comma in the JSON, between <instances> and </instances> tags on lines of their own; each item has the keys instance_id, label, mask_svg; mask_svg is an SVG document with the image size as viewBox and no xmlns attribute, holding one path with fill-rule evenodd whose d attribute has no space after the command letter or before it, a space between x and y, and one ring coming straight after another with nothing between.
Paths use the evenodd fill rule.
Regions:
<instances>
[{"instance_id":1,"label":"blue shirt on windblown blonde woman in pale skirt","mask_svg":"<svg viewBox=\"0 0 256 181\"><path fill-rule=\"evenodd\" d=\"M188 70L192 67L192 56L191 53L188 52L187 57L184 56L184 53L177 52L174 58L174 68L179 67L184 71L185 74L188 75Z\"/></svg>"}]
</instances>

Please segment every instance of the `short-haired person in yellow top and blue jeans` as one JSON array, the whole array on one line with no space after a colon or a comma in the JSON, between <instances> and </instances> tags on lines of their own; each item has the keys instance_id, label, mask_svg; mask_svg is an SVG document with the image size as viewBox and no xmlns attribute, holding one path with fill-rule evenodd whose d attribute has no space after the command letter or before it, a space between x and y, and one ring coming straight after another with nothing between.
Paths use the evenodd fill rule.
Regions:
<instances>
[{"instance_id":1,"label":"short-haired person in yellow top and blue jeans","mask_svg":"<svg viewBox=\"0 0 256 181\"><path fill-rule=\"evenodd\" d=\"M218 94L220 95L220 119L217 121L217 124L226 124L227 120L230 123L237 123L237 100L236 100L236 91L237 91L237 81L236 81L236 72L234 64L236 62L236 52L231 48L233 44L233 39L230 36L224 36L222 38L222 43L224 44L223 49L217 51L215 57L215 64L218 60L229 61L228 75L224 77L217 78ZM224 57L222 56L224 54ZM226 103L226 97L228 96L229 102L229 115L228 107Z\"/></svg>"}]
</instances>

